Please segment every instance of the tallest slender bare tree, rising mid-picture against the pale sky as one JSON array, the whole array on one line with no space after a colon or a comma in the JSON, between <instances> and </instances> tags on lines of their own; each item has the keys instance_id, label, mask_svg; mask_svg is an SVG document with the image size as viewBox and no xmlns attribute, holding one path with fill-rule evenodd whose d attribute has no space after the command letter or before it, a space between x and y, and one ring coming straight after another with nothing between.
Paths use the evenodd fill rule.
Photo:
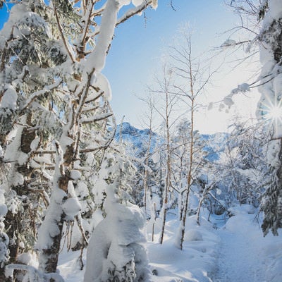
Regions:
<instances>
[{"instance_id":1,"label":"tallest slender bare tree, rising mid-picture against the pale sky","mask_svg":"<svg viewBox=\"0 0 282 282\"><path fill-rule=\"evenodd\" d=\"M199 109L200 104L197 98L204 93L205 87L208 85L214 72L211 72L209 66L201 66L201 63L194 54L192 48L191 34L188 27L184 26L178 37L176 44L171 47L171 73L176 78L174 83L174 94L181 99L188 111L185 112L189 116L190 121L190 142L188 145L188 169L185 173L185 188L183 192L183 216L179 228L179 247L183 249L183 240L185 235L186 214L188 212L188 202L190 188L195 179L196 168L200 161L197 161L195 152L199 147L195 147L196 131L195 131L195 112Z\"/></svg>"}]
</instances>

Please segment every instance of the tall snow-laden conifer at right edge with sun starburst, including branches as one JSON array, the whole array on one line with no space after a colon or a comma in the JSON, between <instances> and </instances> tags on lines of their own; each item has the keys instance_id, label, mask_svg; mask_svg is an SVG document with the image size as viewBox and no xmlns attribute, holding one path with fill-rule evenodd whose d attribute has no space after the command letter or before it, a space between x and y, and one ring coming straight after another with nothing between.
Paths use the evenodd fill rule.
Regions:
<instances>
[{"instance_id":1,"label":"tall snow-laden conifer at right edge with sun starburst, including branches","mask_svg":"<svg viewBox=\"0 0 282 282\"><path fill-rule=\"evenodd\" d=\"M244 1L233 0L231 6L235 8L241 18L240 29L246 31L247 40L233 42L228 46L247 44L246 51L259 45L259 57L262 63L262 71L259 78L252 85L239 85L239 87L228 95L226 101L232 104L232 96L238 92L246 92L251 87L259 87L261 98L257 106L257 116L264 119L266 133L272 132L272 140L269 140L267 159L273 179L262 199L262 211L264 222L262 229L264 235L269 230L278 235L281 228L281 1L258 0ZM245 21L245 16L251 16L255 21ZM251 27L246 23L255 23ZM255 37L254 37L255 35ZM270 124L270 125L269 125Z\"/></svg>"}]
</instances>

